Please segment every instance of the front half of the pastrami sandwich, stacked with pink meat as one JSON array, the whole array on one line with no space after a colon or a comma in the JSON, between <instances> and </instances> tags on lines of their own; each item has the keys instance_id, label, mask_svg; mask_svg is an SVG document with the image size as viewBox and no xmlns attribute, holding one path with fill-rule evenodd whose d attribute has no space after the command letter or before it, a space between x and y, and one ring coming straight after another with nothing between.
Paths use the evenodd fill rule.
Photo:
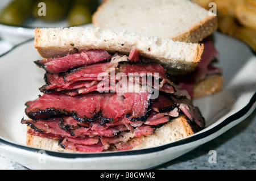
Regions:
<instances>
[{"instance_id":1,"label":"front half of the pastrami sandwich, stacked with pink meat","mask_svg":"<svg viewBox=\"0 0 256 181\"><path fill-rule=\"evenodd\" d=\"M187 91L172 83L195 69L204 44L122 30L40 28L35 48L46 70L26 103L27 145L64 152L147 148L204 128Z\"/></svg>"}]
</instances>

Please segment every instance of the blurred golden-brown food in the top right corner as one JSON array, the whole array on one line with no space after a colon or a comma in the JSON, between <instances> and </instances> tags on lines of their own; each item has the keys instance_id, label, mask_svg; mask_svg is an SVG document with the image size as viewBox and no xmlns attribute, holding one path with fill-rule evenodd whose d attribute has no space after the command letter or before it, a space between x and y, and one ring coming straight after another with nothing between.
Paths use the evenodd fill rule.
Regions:
<instances>
[{"instance_id":1,"label":"blurred golden-brown food in the top right corner","mask_svg":"<svg viewBox=\"0 0 256 181\"><path fill-rule=\"evenodd\" d=\"M216 3L218 30L245 41L256 52L256 0L192 0L210 10Z\"/></svg>"}]
</instances>

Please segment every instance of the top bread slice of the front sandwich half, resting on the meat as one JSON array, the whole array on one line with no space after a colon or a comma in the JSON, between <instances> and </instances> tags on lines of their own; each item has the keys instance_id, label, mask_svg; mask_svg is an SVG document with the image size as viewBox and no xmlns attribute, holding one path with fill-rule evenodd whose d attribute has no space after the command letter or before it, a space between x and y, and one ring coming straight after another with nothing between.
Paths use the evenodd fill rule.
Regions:
<instances>
[{"instance_id":1,"label":"top bread slice of the front sandwich half, resting on the meat","mask_svg":"<svg viewBox=\"0 0 256 181\"><path fill-rule=\"evenodd\" d=\"M36 28L35 48L44 58L65 56L80 50L104 49L139 54L159 62L173 75L193 71L201 60L204 44L185 43L126 30L101 28Z\"/></svg>"}]
</instances>

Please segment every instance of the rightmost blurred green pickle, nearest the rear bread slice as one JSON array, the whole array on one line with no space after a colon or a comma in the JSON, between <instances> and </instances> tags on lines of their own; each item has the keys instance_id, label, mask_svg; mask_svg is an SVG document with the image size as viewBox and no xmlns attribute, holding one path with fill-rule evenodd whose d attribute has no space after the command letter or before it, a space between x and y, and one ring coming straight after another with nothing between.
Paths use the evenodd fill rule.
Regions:
<instances>
[{"instance_id":1,"label":"rightmost blurred green pickle, nearest the rear bread slice","mask_svg":"<svg viewBox=\"0 0 256 181\"><path fill-rule=\"evenodd\" d=\"M79 26L92 22L92 12L89 7L82 4L75 4L68 14L69 26Z\"/></svg>"}]
</instances>

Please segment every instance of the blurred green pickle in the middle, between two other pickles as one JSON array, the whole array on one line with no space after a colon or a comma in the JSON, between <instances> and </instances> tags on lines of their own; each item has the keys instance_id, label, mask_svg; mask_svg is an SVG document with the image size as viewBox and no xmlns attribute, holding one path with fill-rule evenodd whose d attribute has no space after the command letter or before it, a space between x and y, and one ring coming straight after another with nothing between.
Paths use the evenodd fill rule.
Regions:
<instances>
[{"instance_id":1,"label":"blurred green pickle in the middle, between two other pickles","mask_svg":"<svg viewBox=\"0 0 256 181\"><path fill-rule=\"evenodd\" d=\"M34 4L32 15L46 21L61 20L67 15L69 4L69 0L38 0Z\"/></svg>"}]
</instances>

